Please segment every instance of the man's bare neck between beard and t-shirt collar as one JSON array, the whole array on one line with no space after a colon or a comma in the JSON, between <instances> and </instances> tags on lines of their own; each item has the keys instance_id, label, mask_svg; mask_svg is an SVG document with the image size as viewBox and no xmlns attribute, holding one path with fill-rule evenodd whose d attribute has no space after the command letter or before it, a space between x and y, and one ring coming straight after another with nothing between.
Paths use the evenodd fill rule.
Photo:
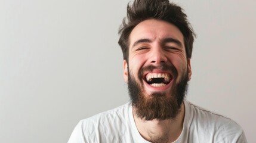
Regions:
<instances>
[{"instance_id":1,"label":"man's bare neck between beard and t-shirt collar","mask_svg":"<svg viewBox=\"0 0 256 143\"><path fill-rule=\"evenodd\" d=\"M184 102L181 110L175 119L168 120L143 120L135 114L133 116L140 135L150 142L174 142L183 130L183 120L185 116Z\"/></svg>"}]
</instances>

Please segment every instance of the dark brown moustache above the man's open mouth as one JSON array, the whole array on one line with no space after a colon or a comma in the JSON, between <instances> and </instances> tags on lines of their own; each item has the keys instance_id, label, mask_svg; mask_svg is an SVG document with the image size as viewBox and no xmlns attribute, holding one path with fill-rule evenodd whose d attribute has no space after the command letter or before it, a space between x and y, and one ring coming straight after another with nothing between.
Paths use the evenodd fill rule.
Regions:
<instances>
[{"instance_id":1,"label":"dark brown moustache above the man's open mouth","mask_svg":"<svg viewBox=\"0 0 256 143\"><path fill-rule=\"evenodd\" d=\"M164 70L164 71L170 71L172 73L172 76L177 77L178 75L178 71L177 69L174 67L173 64L161 64L161 66L153 66L153 65L149 65L146 67L141 67L139 73L138 73L138 77L140 79L143 79L143 73L145 73L146 71L150 71L152 72L155 69L159 69L159 70Z\"/></svg>"}]
</instances>

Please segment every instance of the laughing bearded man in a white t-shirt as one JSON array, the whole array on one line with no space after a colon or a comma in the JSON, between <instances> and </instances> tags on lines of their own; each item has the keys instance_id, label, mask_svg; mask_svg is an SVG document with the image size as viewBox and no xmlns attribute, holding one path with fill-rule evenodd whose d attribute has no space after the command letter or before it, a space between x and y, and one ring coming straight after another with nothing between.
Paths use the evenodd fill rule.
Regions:
<instances>
[{"instance_id":1,"label":"laughing bearded man in a white t-shirt","mask_svg":"<svg viewBox=\"0 0 256 143\"><path fill-rule=\"evenodd\" d=\"M184 100L194 32L168 0L135 0L119 45L131 103L81 120L74 142L246 142L233 120Z\"/></svg>"}]
</instances>

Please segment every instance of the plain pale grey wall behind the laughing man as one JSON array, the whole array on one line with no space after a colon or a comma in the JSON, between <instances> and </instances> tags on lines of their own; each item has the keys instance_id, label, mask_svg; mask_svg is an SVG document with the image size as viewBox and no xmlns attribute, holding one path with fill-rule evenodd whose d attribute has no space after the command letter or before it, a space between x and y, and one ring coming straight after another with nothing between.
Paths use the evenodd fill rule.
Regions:
<instances>
[{"instance_id":1,"label":"plain pale grey wall behind the laughing man","mask_svg":"<svg viewBox=\"0 0 256 143\"><path fill-rule=\"evenodd\" d=\"M256 142L256 1L175 0L197 38L187 99ZM118 28L128 1L0 1L0 142L67 142L129 101Z\"/></svg>"}]
</instances>

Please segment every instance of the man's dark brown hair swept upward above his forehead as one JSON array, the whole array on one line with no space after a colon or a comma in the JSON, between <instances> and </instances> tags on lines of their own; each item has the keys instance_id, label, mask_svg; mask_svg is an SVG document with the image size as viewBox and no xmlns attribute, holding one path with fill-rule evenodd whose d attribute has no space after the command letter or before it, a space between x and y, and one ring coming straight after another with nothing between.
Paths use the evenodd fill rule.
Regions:
<instances>
[{"instance_id":1,"label":"man's dark brown hair swept upward above his forehead","mask_svg":"<svg viewBox=\"0 0 256 143\"><path fill-rule=\"evenodd\" d=\"M164 20L174 24L184 36L184 45L187 58L191 58L195 33L187 20L187 15L178 5L169 3L168 0L135 0L132 5L127 5L127 18L124 18L119 29L119 45L121 46L124 60L128 62L129 35L138 23L148 20Z\"/></svg>"}]
</instances>

